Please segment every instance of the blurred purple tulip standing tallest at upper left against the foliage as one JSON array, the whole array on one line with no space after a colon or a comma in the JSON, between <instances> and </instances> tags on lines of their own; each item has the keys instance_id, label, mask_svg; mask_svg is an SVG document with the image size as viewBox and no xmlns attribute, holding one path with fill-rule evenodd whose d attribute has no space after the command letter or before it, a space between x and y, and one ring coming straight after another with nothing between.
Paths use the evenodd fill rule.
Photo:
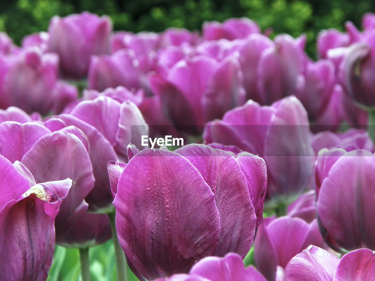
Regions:
<instances>
[{"instance_id":1,"label":"blurred purple tulip standing tallest at upper left against the foliage","mask_svg":"<svg viewBox=\"0 0 375 281\"><path fill-rule=\"evenodd\" d=\"M65 18L54 16L48 27L48 51L58 54L64 75L82 78L87 75L92 55L109 52L111 30L108 16L89 12Z\"/></svg>"}]
</instances>

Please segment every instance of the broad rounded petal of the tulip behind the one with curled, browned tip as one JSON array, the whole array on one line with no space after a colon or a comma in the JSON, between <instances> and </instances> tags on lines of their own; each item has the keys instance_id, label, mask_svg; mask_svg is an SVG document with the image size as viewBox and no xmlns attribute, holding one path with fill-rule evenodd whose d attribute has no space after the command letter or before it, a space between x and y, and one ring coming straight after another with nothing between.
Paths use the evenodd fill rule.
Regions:
<instances>
[{"instance_id":1,"label":"broad rounded petal of the tulip behind the one with curled, browned tip","mask_svg":"<svg viewBox=\"0 0 375 281\"><path fill-rule=\"evenodd\" d=\"M37 183L68 177L73 181L55 220L58 241L78 218L76 208L93 188L95 180L89 154L75 135L58 131L40 138L22 157L21 162L30 170Z\"/></svg>"}]
</instances>

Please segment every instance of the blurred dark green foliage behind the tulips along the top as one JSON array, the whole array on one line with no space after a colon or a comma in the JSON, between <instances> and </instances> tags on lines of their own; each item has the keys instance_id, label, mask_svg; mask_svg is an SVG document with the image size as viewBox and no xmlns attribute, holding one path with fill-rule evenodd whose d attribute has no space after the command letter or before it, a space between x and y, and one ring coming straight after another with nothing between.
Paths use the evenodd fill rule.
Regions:
<instances>
[{"instance_id":1,"label":"blurred dark green foliage behind the tulips along the top","mask_svg":"<svg viewBox=\"0 0 375 281\"><path fill-rule=\"evenodd\" d=\"M162 31L168 27L200 30L204 21L247 16L275 36L306 33L306 50L315 57L315 39L321 29L343 30L345 21L360 26L363 13L374 11L372 0L0 0L0 30L19 44L26 34L47 30L54 15L88 10L112 18L114 30Z\"/></svg>"}]
</instances>

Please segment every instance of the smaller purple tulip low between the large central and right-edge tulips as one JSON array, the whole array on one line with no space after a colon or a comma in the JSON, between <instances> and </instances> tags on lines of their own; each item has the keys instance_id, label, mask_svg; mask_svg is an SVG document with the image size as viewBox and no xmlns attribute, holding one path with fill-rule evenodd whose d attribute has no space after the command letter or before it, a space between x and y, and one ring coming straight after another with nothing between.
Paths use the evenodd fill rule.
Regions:
<instances>
[{"instance_id":1,"label":"smaller purple tulip low between the large central and right-edge tulips","mask_svg":"<svg viewBox=\"0 0 375 281\"><path fill-rule=\"evenodd\" d=\"M309 245L324 246L317 220L308 224L300 218L267 218L254 241L255 265L268 281L275 281L277 267L285 268Z\"/></svg>"}]
</instances>

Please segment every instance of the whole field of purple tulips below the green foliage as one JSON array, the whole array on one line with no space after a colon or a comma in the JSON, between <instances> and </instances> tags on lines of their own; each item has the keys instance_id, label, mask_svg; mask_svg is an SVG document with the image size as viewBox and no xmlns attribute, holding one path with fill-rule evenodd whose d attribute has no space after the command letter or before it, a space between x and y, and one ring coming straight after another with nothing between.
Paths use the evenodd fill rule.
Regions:
<instances>
[{"instance_id":1,"label":"whole field of purple tulips below the green foliage","mask_svg":"<svg viewBox=\"0 0 375 281\"><path fill-rule=\"evenodd\" d=\"M0 281L375 281L375 14L345 28L0 33Z\"/></svg>"}]
</instances>

